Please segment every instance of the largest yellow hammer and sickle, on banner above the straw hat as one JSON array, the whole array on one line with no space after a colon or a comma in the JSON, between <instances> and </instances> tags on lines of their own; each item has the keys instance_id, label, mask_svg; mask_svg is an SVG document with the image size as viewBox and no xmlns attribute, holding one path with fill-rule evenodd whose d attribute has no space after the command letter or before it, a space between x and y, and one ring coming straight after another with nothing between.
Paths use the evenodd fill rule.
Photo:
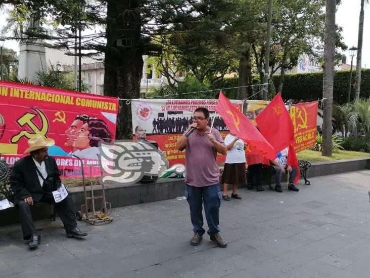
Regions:
<instances>
[{"instance_id":1,"label":"largest yellow hammer and sickle, on banner above the straw hat","mask_svg":"<svg viewBox=\"0 0 370 278\"><path fill-rule=\"evenodd\" d=\"M28 139L31 139L32 137L37 136L37 135L45 137L45 135L47 134L47 132L49 130L49 123L48 123L47 117L45 116L44 113L42 113L37 108L32 108L32 109L35 110L36 113L41 118L41 128L38 128L37 125L32 121L33 118L35 116L37 116L37 114L33 114L33 113L30 113L30 112L25 113L22 117L20 117L17 120L17 123L21 127L27 125L32 130L32 132L28 132L28 131L25 131L25 130L19 132L17 135L13 136L13 138L11 140L12 143L17 143L23 136L27 137Z\"/></svg>"}]
</instances>

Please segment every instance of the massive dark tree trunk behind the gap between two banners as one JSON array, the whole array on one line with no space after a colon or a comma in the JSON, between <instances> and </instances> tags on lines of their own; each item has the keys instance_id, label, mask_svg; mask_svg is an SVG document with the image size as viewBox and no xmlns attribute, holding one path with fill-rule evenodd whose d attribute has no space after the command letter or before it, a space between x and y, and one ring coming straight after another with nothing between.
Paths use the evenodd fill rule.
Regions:
<instances>
[{"instance_id":1,"label":"massive dark tree trunk behind the gap between two banners","mask_svg":"<svg viewBox=\"0 0 370 278\"><path fill-rule=\"evenodd\" d=\"M107 3L104 94L121 99L138 98L144 63L140 47L141 19L136 12L139 4L138 1L120 0L108 0ZM131 135L131 105L121 100L116 139L131 138Z\"/></svg>"}]
</instances>

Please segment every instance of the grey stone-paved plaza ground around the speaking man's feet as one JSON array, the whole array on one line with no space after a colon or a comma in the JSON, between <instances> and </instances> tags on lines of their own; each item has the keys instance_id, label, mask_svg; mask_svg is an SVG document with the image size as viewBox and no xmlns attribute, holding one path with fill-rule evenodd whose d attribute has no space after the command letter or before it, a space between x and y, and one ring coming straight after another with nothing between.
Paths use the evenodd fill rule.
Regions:
<instances>
[{"instance_id":1,"label":"grey stone-paved plaza ground around the speaking man's feet","mask_svg":"<svg viewBox=\"0 0 370 278\"><path fill-rule=\"evenodd\" d=\"M84 239L67 239L59 219L37 221L35 251L19 225L2 227L0 277L369 277L370 171L310 181L222 201L227 248L207 235L191 246L188 203L177 199L113 209L110 224L79 222Z\"/></svg>"}]
</instances>

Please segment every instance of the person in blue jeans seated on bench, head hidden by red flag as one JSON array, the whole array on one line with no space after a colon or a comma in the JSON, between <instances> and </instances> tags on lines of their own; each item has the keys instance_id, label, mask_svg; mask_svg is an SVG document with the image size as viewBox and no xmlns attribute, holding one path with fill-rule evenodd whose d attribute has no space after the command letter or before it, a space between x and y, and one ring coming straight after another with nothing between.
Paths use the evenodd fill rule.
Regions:
<instances>
[{"instance_id":1,"label":"person in blue jeans seated on bench, head hidden by red flag","mask_svg":"<svg viewBox=\"0 0 370 278\"><path fill-rule=\"evenodd\" d=\"M282 190L282 174L286 173L286 171L289 172L289 184L288 189L292 191L299 191L297 187L294 186L293 182L296 178L297 174L297 168L292 167L291 165L288 165L288 151L289 148L285 148L282 151L280 151L276 156L275 160L271 161L271 164L273 164L272 167L275 168L275 191L276 192L283 192Z\"/></svg>"}]
</instances>

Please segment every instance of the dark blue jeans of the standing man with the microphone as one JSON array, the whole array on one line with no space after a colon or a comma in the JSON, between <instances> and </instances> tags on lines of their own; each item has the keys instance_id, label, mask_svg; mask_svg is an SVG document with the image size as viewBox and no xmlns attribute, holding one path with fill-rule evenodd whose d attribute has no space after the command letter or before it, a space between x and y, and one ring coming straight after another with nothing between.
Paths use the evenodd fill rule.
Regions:
<instances>
[{"instance_id":1,"label":"dark blue jeans of the standing man with the microphone","mask_svg":"<svg viewBox=\"0 0 370 278\"><path fill-rule=\"evenodd\" d=\"M207 231L208 234L219 232L219 208L221 205L220 184L217 183L203 187L195 187L187 184L185 197L190 207L190 218L194 227L193 231L200 234L205 233L203 229L203 203L209 228Z\"/></svg>"}]
</instances>

